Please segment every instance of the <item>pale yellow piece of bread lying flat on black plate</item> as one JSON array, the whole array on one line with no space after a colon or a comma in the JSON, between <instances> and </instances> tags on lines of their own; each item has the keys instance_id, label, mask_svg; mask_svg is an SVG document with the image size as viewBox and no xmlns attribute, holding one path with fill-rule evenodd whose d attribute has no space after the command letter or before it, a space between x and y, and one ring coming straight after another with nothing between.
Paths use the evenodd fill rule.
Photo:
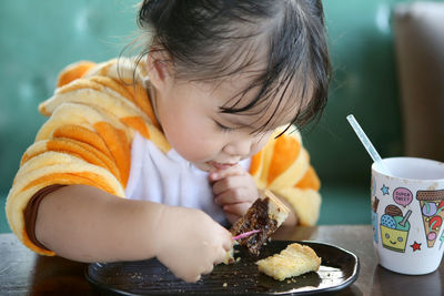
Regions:
<instances>
[{"instance_id":1,"label":"pale yellow piece of bread lying flat on black plate","mask_svg":"<svg viewBox=\"0 0 444 296\"><path fill-rule=\"evenodd\" d=\"M297 243L289 245L280 254L256 262L259 271L279 280L317 272L321 258L309 246Z\"/></svg>"}]
</instances>

